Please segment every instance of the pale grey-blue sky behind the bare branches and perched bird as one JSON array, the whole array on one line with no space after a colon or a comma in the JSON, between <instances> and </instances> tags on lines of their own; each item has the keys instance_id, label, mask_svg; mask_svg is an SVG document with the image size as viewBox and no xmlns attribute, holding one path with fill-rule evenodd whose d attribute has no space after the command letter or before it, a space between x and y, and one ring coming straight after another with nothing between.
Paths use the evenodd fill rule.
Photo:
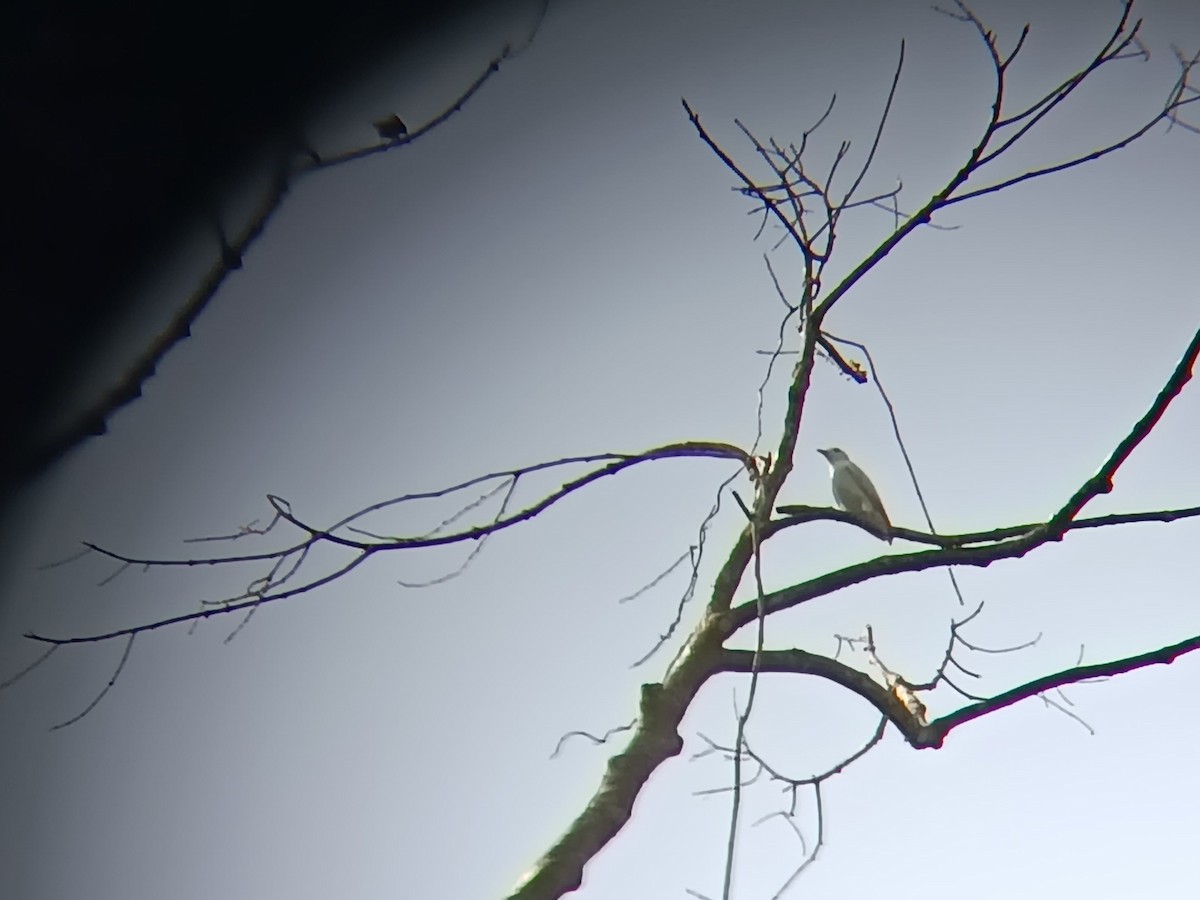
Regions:
<instances>
[{"instance_id":1,"label":"pale grey-blue sky behind the bare branches and perched bird","mask_svg":"<svg viewBox=\"0 0 1200 900\"><path fill-rule=\"evenodd\" d=\"M1111 6L1111 10L1110 10ZM1103 14L1098 12L1103 7ZM1120 5L984 2L1008 47L1020 103L1076 71ZM1165 97L1171 42L1200 44L1192 2L1146 0L1148 62L1099 73L1012 163L1058 162L1135 127ZM325 154L370 144L389 112L436 115L536 18L468 23L455 43L395 59L314 116ZM696 439L749 446L757 388L782 307L762 254L798 295L794 251L755 241L758 221L697 139L686 97L728 152L733 124L838 144L860 162L900 41L906 62L866 190L904 184L916 209L962 163L986 121L978 36L922 2L553 4L533 44L458 115L394 152L302 180L193 329L115 416L26 498L0 574L0 680L41 648L22 635L104 631L240 593L253 569L131 570L96 556L50 570L91 540L186 558L184 539L265 521L268 492L329 523L370 503L560 456ZM1027 58L1026 55L1027 54ZM1043 520L1145 412L1200 319L1200 137L1156 128L1088 167L948 210L864 278L827 320L865 342L896 404L935 523L944 532ZM248 169L252 173L252 167ZM247 182L251 188L254 179ZM984 184L984 179L980 179ZM228 200L230 216L253 190ZM888 234L847 215L824 282ZM199 230L148 276L144 308L97 361L91 386L186 296L212 247ZM794 336L790 340L794 341ZM122 355L125 354L125 355ZM790 365L782 367L790 371ZM86 385L85 385L86 390ZM779 432L785 382L767 391ZM866 468L893 522L920 528L878 396L818 365L781 502L830 502L815 449ZM1200 503L1200 394L1175 402L1088 512ZM594 792L614 748L559 737L630 721L678 638L641 667L674 614L677 572L618 600L690 544L727 461L661 461L604 479L472 547L376 556L344 580L260 608L140 637L114 689L116 642L60 650L0 692L0 895L306 899L503 895ZM522 485L551 490L556 474ZM490 508L494 514L494 500ZM383 533L428 530L449 504L380 515ZM714 521L707 598L740 514ZM959 576L986 600L984 646L1042 634L1022 653L976 656L980 694L1200 630L1200 524L1072 534L1025 559ZM244 540L229 550L277 546ZM768 589L881 552L839 523L767 548ZM312 560L318 571L331 557ZM336 560L335 560L336 562ZM743 586L743 592L750 586ZM877 580L770 620L772 647L833 653L875 629L911 680L941 661L958 606L944 572ZM739 638L744 643L742 638ZM842 656L865 667L862 654ZM1037 700L956 730L940 751L883 743L826 787L826 844L790 895L1028 898L1150 895L1193 881L1194 690L1200 659ZM720 894L731 769L700 734L732 743L742 679L718 678L684 721L683 755L655 773L631 823L588 866L582 898ZM932 715L956 707L928 698ZM754 746L796 776L850 755L877 716L818 679L766 678ZM744 823L786 809L746 792ZM815 839L811 797L798 824ZM738 898L770 896L803 859L778 818L743 832Z\"/></svg>"}]
</instances>

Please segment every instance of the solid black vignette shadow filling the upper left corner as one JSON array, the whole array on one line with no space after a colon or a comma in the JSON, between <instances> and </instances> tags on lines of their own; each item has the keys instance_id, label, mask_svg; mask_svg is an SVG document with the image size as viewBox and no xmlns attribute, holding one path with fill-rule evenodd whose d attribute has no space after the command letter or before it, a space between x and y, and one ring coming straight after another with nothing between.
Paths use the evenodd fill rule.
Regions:
<instances>
[{"instance_id":1,"label":"solid black vignette shadow filling the upper left corner","mask_svg":"<svg viewBox=\"0 0 1200 900\"><path fill-rule=\"evenodd\" d=\"M380 56L503 5L66 0L5 13L0 511L104 431L103 416L70 433L48 422L130 286L223 179L295 140L311 108Z\"/></svg>"}]
</instances>

